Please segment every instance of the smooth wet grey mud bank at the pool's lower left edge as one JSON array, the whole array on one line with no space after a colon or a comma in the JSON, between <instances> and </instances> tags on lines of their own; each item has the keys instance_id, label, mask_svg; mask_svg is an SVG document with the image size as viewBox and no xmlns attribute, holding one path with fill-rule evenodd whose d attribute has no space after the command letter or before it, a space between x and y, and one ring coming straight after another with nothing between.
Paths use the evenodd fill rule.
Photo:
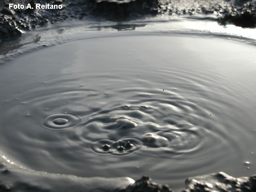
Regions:
<instances>
[{"instance_id":1,"label":"smooth wet grey mud bank at the pool's lower left edge","mask_svg":"<svg viewBox=\"0 0 256 192\"><path fill-rule=\"evenodd\" d=\"M1 157L4 157L0 154ZM73 175L49 174L21 168L0 160L0 191L1 192L119 192L134 180L121 178L82 178ZM85 170L86 171L86 170Z\"/></svg>"}]
</instances>

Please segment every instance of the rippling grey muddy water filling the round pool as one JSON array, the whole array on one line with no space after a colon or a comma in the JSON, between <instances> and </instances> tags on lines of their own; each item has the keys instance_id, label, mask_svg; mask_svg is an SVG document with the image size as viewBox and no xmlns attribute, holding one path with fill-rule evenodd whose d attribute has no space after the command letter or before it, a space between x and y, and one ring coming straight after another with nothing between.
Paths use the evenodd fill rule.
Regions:
<instances>
[{"instance_id":1,"label":"rippling grey muddy water filling the round pool","mask_svg":"<svg viewBox=\"0 0 256 192\"><path fill-rule=\"evenodd\" d=\"M0 149L27 168L154 181L255 173L256 47L106 32L0 65Z\"/></svg>"}]
</instances>

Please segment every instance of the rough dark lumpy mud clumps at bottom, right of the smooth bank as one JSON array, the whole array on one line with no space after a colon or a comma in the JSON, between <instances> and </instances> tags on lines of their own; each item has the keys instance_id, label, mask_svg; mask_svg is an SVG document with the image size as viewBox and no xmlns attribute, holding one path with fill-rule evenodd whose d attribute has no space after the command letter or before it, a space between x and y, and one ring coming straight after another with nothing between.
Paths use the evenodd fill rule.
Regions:
<instances>
[{"instance_id":1,"label":"rough dark lumpy mud clumps at bottom, right of the smooth bank","mask_svg":"<svg viewBox=\"0 0 256 192\"><path fill-rule=\"evenodd\" d=\"M168 185L156 184L143 176L120 192L173 192ZM234 178L224 172L188 178L182 192L255 192L256 175Z\"/></svg>"}]
</instances>

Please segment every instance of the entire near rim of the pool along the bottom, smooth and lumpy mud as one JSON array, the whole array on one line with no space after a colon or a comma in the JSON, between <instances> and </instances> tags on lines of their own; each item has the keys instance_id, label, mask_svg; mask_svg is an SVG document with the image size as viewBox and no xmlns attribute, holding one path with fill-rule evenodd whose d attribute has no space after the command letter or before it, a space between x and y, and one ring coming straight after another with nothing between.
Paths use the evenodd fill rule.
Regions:
<instances>
[{"instance_id":1,"label":"entire near rim of the pool along the bottom, smooth and lumpy mud","mask_svg":"<svg viewBox=\"0 0 256 192\"><path fill-rule=\"evenodd\" d=\"M132 178L82 178L50 174L17 166L4 155L0 160L1 192L173 192L168 185L156 184L142 176ZM86 168L85 170L86 171ZM219 172L188 178L182 192L255 192L256 175L234 178Z\"/></svg>"}]
</instances>

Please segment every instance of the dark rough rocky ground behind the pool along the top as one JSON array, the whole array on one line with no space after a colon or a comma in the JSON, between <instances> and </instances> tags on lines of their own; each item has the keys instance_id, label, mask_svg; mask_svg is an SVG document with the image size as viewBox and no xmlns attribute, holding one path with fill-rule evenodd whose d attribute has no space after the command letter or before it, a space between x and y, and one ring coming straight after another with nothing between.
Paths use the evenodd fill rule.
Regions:
<instances>
[{"instance_id":1,"label":"dark rough rocky ground behind the pool along the top","mask_svg":"<svg viewBox=\"0 0 256 192\"><path fill-rule=\"evenodd\" d=\"M9 3L30 3L34 9L9 9ZM35 9L36 3L61 4L62 9ZM213 13L223 25L256 27L256 0L1 0L0 40L64 20L126 21L158 14Z\"/></svg>"}]
</instances>

